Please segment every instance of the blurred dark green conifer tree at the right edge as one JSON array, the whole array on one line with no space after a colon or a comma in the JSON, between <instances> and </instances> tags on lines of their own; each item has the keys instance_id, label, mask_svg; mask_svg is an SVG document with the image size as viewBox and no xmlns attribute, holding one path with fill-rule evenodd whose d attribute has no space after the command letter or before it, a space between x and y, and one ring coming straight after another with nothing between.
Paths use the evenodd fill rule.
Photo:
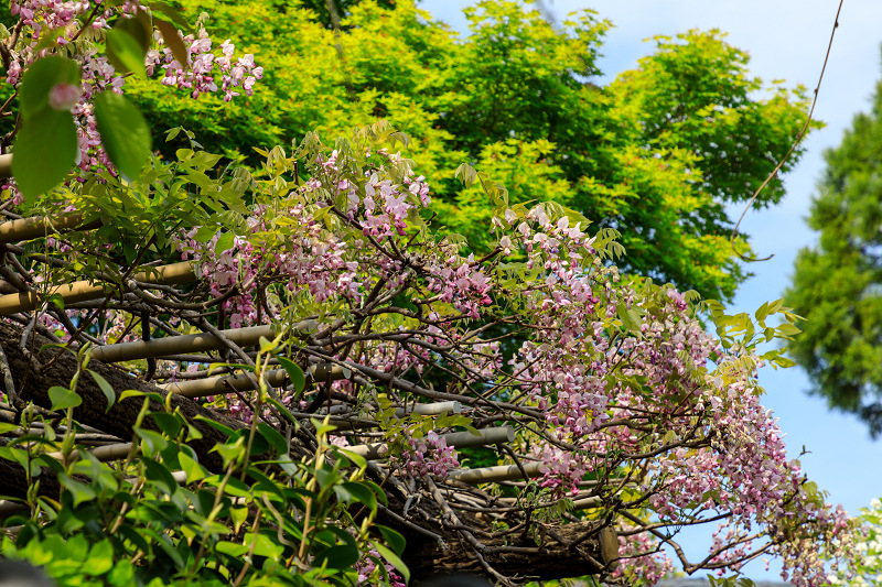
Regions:
<instances>
[{"instance_id":1,"label":"blurred dark green conifer tree at the right edge","mask_svg":"<svg viewBox=\"0 0 882 587\"><path fill-rule=\"evenodd\" d=\"M796 259L787 304L807 318L790 343L814 392L882 434L882 88L858 115L811 205L817 246Z\"/></svg>"}]
</instances>

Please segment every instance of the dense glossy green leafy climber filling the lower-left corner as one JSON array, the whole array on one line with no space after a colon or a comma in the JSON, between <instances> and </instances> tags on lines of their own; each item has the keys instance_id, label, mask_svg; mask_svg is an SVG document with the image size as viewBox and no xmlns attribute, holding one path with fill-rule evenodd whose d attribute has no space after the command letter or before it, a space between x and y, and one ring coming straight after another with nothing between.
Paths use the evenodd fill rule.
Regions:
<instances>
[{"instance_id":1,"label":"dense glossy green leafy climber filling the lower-left corner","mask_svg":"<svg viewBox=\"0 0 882 587\"><path fill-rule=\"evenodd\" d=\"M273 344L261 348L272 352ZM84 347L82 373L105 389L87 357ZM387 561L407 578L404 537L374 523L386 493L364 479L364 458L326 443L332 427L314 422L318 450L293 460L286 438L266 423L234 431L206 421L226 436L214 448L223 470L209 471L187 444L198 430L168 406L149 410L150 400L162 403L150 394L128 456L107 464L75 444L79 377L50 390L52 410L66 414L63 437L54 432L58 423L33 407L21 425L0 425L14 433L0 458L20 465L31 488L25 511L3 521L4 556L42 566L62 586L343 587L372 558L372 584L390 580ZM109 410L115 392L107 393ZM119 401L142 395L126 392ZM42 434L22 432L29 428ZM56 496L40 491L50 482Z\"/></svg>"}]
</instances>

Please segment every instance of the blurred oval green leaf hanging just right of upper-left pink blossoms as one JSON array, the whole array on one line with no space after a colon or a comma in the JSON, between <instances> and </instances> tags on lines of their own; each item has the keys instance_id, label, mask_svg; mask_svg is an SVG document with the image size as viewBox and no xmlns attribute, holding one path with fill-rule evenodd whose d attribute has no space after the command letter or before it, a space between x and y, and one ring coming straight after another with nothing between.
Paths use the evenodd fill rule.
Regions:
<instances>
[{"instance_id":1,"label":"blurred oval green leaf hanging just right of upper-left pink blossoms","mask_svg":"<svg viewBox=\"0 0 882 587\"><path fill-rule=\"evenodd\" d=\"M95 97L95 119L110 161L123 177L137 177L150 157L150 127L123 96L103 91Z\"/></svg>"}]
</instances>

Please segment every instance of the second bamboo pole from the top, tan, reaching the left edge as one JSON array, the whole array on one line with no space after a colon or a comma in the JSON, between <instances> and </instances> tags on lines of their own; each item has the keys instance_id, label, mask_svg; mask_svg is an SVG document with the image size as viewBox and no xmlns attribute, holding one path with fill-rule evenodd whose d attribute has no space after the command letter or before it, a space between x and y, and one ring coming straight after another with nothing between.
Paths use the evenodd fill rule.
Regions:
<instances>
[{"instance_id":1,"label":"second bamboo pole from the top, tan, reaching the left edge","mask_svg":"<svg viewBox=\"0 0 882 587\"><path fill-rule=\"evenodd\" d=\"M161 265L149 270L140 271L132 275L132 279L142 283L154 285L178 285L195 281L196 274L193 265L189 261ZM104 297L114 290L109 283L93 281L76 281L65 285L56 285L50 289L49 295L61 295L65 304L75 304ZM40 305L44 300L36 292L22 292L18 294L0 295L0 316L18 314L19 312L30 312Z\"/></svg>"}]
</instances>

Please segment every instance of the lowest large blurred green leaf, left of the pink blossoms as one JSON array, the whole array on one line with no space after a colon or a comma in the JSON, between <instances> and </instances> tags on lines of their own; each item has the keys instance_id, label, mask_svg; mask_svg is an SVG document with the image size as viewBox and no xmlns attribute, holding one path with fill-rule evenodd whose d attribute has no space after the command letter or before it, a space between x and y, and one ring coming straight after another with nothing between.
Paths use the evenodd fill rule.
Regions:
<instances>
[{"instance_id":1,"label":"lowest large blurred green leaf, left of the pink blossoms","mask_svg":"<svg viewBox=\"0 0 882 587\"><path fill-rule=\"evenodd\" d=\"M46 107L40 116L24 120L13 145L12 176L29 205L64 180L77 150L71 112Z\"/></svg>"}]
</instances>

